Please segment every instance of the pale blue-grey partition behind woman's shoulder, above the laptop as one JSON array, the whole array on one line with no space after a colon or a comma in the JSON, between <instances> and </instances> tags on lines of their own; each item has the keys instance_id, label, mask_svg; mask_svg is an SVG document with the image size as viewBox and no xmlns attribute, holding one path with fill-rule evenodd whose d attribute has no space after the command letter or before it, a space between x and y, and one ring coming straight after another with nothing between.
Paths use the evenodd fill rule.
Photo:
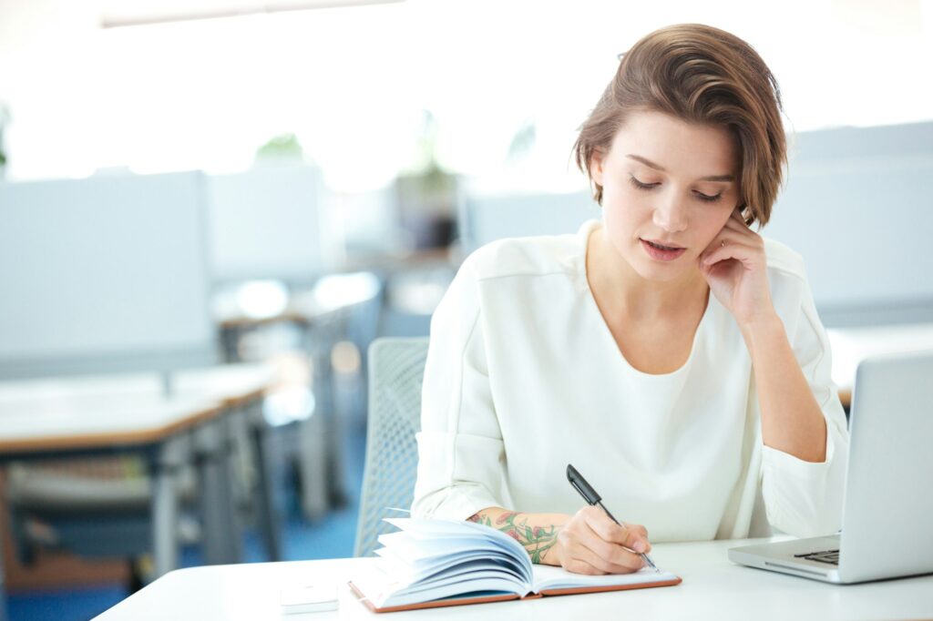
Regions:
<instances>
[{"instance_id":1,"label":"pale blue-grey partition behind woman's shoulder, above the laptop","mask_svg":"<svg viewBox=\"0 0 933 621\"><path fill-rule=\"evenodd\" d=\"M762 234L801 253L824 323L933 321L933 122L791 140Z\"/></svg>"}]
</instances>

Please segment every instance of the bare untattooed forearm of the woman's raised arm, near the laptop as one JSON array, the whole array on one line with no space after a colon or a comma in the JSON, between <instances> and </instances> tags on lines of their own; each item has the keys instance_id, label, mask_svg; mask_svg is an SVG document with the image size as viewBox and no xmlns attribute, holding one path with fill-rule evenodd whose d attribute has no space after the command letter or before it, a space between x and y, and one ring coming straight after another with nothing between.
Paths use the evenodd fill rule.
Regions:
<instances>
[{"instance_id":1,"label":"bare untattooed forearm of the woman's raised arm, near the laptop","mask_svg":"<svg viewBox=\"0 0 933 621\"><path fill-rule=\"evenodd\" d=\"M755 370L761 440L804 462L826 461L826 419L803 377L781 319L742 330Z\"/></svg>"}]
</instances>

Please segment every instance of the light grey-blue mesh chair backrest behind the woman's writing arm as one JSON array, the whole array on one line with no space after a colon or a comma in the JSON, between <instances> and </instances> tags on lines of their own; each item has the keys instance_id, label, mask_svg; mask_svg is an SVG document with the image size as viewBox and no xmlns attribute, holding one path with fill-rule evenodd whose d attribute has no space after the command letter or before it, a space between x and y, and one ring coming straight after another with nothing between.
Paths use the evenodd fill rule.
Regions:
<instances>
[{"instance_id":1,"label":"light grey-blue mesh chair backrest behind the woman's writing arm","mask_svg":"<svg viewBox=\"0 0 933 621\"><path fill-rule=\"evenodd\" d=\"M366 468L356 525L357 557L370 556L393 527L383 517L406 517L414 498L421 429L425 338L377 338L369 346L369 418Z\"/></svg>"}]
</instances>

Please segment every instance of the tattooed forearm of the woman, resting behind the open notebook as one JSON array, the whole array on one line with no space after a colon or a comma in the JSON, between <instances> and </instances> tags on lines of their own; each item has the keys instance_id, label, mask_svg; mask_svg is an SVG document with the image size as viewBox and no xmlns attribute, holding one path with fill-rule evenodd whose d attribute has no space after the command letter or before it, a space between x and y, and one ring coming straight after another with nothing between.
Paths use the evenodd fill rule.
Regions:
<instances>
[{"instance_id":1,"label":"tattooed forearm of the woman, resting behind the open notebook","mask_svg":"<svg viewBox=\"0 0 933 621\"><path fill-rule=\"evenodd\" d=\"M534 563L561 564L553 550L557 535L570 516L563 513L520 513L492 506L467 519L505 532L524 546Z\"/></svg>"}]
</instances>

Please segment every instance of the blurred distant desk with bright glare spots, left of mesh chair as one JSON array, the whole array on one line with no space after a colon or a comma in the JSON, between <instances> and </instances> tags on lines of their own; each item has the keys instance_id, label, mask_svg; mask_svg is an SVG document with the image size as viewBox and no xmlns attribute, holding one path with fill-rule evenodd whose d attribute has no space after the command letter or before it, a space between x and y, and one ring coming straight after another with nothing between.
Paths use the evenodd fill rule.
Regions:
<instances>
[{"instance_id":1,"label":"blurred distant desk with bright glare spots, left of mesh chair","mask_svg":"<svg viewBox=\"0 0 933 621\"><path fill-rule=\"evenodd\" d=\"M214 314L228 361L283 353L268 351L276 334L285 335L286 350L303 356L299 366L308 376L310 405L300 413L296 408L294 418L278 424L297 422L288 429L297 448L288 451L287 460L296 467L301 509L311 520L346 502L341 455L346 421L337 411L335 369L341 370L341 364L334 359L347 349L354 354L350 356L353 364L343 364L342 371L347 374L344 378L355 379L354 393L362 410L366 393L362 366L369 340L378 329L382 291L376 274L357 271L330 274L311 287L291 291L275 281L241 283L218 291L215 297Z\"/></svg>"}]
</instances>

